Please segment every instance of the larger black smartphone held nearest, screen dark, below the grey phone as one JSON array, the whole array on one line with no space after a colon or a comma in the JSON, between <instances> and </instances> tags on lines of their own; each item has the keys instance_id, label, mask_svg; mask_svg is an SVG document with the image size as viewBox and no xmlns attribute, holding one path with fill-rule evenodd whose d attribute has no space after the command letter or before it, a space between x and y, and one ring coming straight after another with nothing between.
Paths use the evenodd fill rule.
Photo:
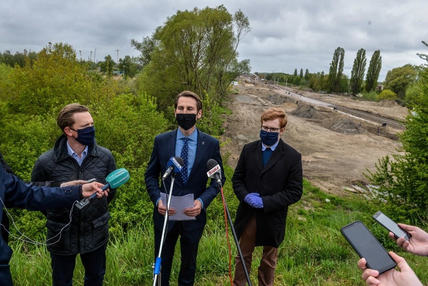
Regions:
<instances>
[{"instance_id":1,"label":"larger black smartphone held nearest, screen dark, below the grey phone","mask_svg":"<svg viewBox=\"0 0 428 286\"><path fill-rule=\"evenodd\" d=\"M340 231L357 254L366 259L367 267L370 269L378 270L379 273L382 273L397 265L361 221L346 225Z\"/></svg>"}]
</instances>

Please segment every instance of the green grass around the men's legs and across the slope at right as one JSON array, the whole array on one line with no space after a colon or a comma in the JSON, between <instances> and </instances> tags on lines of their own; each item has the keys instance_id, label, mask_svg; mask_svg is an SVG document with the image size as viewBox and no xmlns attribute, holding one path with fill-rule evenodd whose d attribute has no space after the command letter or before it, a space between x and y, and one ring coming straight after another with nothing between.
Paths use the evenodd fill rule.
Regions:
<instances>
[{"instance_id":1,"label":"green grass around the men's legs and across the slope at right","mask_svg":"<svg viewBox=\"0 0 428 286\"><path fill-rule=\"evenodd\" d=\"M229 172L230 170L227 170ZM228 175L228 174L227 174ZM234 217L237 201L226 186L225 196L231 216ZM326 203L326 199L330 202ZM230 200L230 202L229 202ZM216 209L220 196L209 208ZM215 204L214 204L215 203ZM278 250L275 285L365 285L357 268L357 254L340 233L340 228L355 220L363 221L378 237L387 250L404 256L422 283L428 283L428 259L398 249L387 238L387 232L371 219L370 203L357 197L341 198L321 192L304 181L302 200L289 208L285 240ZM209 212L209 209L208 209ZM208 221L200 241L195 285L229 285L229 251L226 241L225 219L222 212L217 219ZM235 242L229 231L234 271ZM179 271L179 245L174 257L171 285L177 285ZM46 247L25 251L14 242L11 269L15 285L51 284L50 258ZM153 225L145 218L133 230L111 237L107 248L105 285L151 285L154 262ZM261 247L254 253L252 283L257 285L257 267ZM74 285L83 284L83 267L78 261Z\"/></svg>"}]
</instances>

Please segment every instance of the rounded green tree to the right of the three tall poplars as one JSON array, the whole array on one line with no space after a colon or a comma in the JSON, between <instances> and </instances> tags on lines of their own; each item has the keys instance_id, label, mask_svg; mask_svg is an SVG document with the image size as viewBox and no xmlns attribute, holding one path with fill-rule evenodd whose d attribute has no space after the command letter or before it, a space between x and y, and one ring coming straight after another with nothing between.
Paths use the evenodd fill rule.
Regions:
<instances>
[{"instance_id":1,"label":"rounded green tree to the right of the three tall poplars","mask_svg":"<svg viewBox=\"0 0 428 286\"><path fill-rule=\"evenodd\" d=\"M397 93L397 97L402 99L405 96L407 86L416 79L417 71L411 64L403 65L389 70L386 73L383 87L391 89Z\"/></svg>"}]
</instances>

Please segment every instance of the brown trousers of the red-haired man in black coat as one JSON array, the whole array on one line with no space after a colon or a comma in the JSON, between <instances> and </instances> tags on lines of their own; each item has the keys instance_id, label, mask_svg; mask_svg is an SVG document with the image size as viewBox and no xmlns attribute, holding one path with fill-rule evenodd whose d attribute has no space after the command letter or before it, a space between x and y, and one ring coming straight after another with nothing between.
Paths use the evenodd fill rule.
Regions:
<instances>
[{"instance_id":1,"label":"brown trousers of the red-haired man in black coat","mask_svg":"<svg viewBox=\"0 0 428 286\"><path fill-rule=\"evenodd\" d=\"M256 247L256 217L253 215L248 220L244 231L239 240L242 256L247 266L248 274L251 271L251 262L253 261L253 252ZM278 248L272 246L263 246L262 259L258 269L259 286L273 286L273 276L275 274L276 260L278 257ZM239 254L235 256L235 277L234 286L245 286L247 278L245 277L244 268L242 267Z\"/></svg>"}]
</instances>

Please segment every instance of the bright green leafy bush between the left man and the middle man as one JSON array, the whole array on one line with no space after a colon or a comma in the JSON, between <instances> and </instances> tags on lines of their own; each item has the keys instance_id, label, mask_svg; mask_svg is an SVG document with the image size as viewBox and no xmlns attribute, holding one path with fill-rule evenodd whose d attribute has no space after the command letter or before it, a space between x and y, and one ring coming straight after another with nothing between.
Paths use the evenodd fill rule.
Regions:
<instances>
[{"instance_id":1,"label":"bright green leafy bush between the left man and the middle man","mask_svg":"<svg viewBox=\"0 0 428 286\"><path fill-rule=\"evenodd\" d=\"M118 189L110 205L111 232L117 233L151 217L153 204L146 193L144 172L154 137L166 131L167 121L156 111L155 99L145 92L120 94L111 105L101 104L92 116L97 143L112 150L118 168L130 172L129 181Z\"/></svg>"}]
</instances>

